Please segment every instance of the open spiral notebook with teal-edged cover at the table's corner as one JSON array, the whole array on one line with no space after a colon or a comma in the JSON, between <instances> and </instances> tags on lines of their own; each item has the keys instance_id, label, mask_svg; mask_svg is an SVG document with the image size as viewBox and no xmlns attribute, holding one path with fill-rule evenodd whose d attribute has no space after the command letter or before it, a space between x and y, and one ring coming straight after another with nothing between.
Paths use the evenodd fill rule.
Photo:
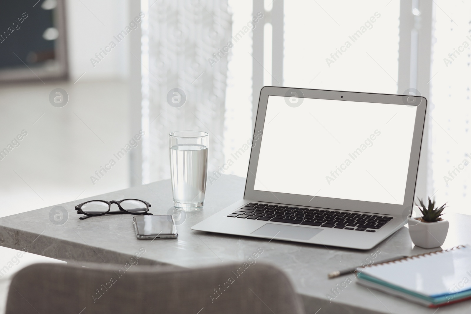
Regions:
<instances>
[{"instance_id":1,"label":"open spiral notebook with teal-edged cover at the table's corner","mask_svg":"<svg viewBox=\"0 0 471 314\"><path fill-rule=\"evenodd\" d=\"M471 247L458 246L357 269L357 283L429 307L471 298Z\"/></svg>"}]
</instances>

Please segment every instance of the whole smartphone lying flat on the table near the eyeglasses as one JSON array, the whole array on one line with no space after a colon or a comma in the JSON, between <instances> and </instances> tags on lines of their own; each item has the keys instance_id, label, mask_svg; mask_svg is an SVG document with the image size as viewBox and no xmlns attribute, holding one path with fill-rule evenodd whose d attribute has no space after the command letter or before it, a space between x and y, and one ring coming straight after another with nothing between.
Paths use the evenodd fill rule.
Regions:
<instances>
[{"instance_id":1,"label":"whole smartphone lying flat on the table near the eyeglasses","mask_svg":"<svg viewBox=\"0 0 471 314\"><path fill-rule=\"evenodd\" d=\"M132 218L138 239L175 239L177 227L171 215L138 215Z\"/></svg>"}]
</instances>

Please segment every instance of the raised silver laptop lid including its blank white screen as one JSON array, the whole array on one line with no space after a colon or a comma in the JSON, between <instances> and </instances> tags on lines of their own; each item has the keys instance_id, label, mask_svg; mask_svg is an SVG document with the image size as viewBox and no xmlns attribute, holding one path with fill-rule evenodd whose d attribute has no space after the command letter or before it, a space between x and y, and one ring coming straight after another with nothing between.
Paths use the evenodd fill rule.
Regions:
<instances>
[{"instance_id":1,"label":"raised silver laptop lid including its blank white screen","mask_svg":"<svg viewBox=\"0 0 471 314\"><path fill-rule=\"evenodd\" d=\"M410 209L424 97L264 87L245 199L398 215Z\"/></svg>"}]
</instances>

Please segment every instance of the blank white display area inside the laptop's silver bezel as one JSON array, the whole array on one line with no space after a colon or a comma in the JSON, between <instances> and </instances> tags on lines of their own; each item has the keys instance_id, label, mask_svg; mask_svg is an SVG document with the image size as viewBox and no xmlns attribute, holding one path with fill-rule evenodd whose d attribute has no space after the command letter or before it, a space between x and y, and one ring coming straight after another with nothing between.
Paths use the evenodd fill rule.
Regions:
<instances>
[{"instance_id":1,"label":"blank white display area inside the laptop's silver bezel","mask_svg":"<svg viewBox=\"0 0 471 314\"><path fill-rule=\"evenodd\" d=\"M269 96L254 190L403 204L416 106Z\"/></svg>"}]
</instances>

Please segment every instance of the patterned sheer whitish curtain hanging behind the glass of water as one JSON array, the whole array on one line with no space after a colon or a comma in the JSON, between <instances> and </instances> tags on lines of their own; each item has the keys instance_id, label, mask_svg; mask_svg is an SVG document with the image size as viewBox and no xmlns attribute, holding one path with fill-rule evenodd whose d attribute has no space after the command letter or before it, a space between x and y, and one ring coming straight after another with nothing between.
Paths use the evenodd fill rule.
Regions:
<instances>
[{"instance_id":1,"label":"patterned sheer whitish curtain hanging behind the glass of water","mask_svg":"<svg viewBox=\"0 0 471 314\"><path fill-rule=\"evenodd\" d=\"M172 131L208 132L209 170L223 163L232 28L227 0L153 2L147 4L149 24L142 38L142 124L149 135L143 143L145 183L170 177Z\"/></svg>"}]
</instances>

